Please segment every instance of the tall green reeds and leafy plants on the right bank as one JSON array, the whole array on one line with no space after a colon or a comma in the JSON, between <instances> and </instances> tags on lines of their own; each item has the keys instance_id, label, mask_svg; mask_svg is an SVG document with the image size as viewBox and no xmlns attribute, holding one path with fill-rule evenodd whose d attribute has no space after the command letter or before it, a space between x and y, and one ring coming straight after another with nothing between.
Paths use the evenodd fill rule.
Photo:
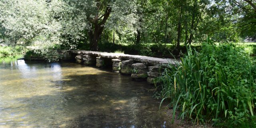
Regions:
<instances>
[{"instance_id":1,"label":"tall green reeds and leafy plants on the right bank","mask_svg":"<svg viewBox=\"0 0 256 128\"><path fill-rule=\"evenodd\" d=\"M256 67L242 48L207 42L200 52L187 51L176 65L164 65L158 78L156 95L171 101L173 118L178 111L181 118L197 123L255 123Z\"/></svg>"}]
</instances>

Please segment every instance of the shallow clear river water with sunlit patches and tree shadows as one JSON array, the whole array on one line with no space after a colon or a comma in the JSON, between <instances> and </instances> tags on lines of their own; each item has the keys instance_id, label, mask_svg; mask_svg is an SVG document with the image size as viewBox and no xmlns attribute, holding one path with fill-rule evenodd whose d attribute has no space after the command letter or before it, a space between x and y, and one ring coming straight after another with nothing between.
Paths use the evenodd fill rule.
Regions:
<instances>
[{"instance_id":1,"label":"shallow clear river water with sunlit patches and tree shadows","mask_svg":"<svg viewBox=\"0 0 256 128\"><path fill-rule=\"evenodd\" d=\"M154 87L74 63L0 64L0 128L167 128Z\"/></svg>"}]
</instances>

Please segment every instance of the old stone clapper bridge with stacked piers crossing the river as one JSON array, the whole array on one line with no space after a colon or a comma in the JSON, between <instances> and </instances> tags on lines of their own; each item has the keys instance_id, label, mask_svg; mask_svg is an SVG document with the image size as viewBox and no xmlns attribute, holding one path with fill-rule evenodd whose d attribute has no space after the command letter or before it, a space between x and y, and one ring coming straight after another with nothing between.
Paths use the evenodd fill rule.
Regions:
<instances>
[{"instance_id":1,"label":"old stone clapper bridge with stacked piers crossing the river","mask_svg":"<svg viewBox=\"0 0 256 128\"><path fill-rule=\"evenodd\" d=\"M147 80L149 84L154 84L154 78L161 74L162 64L177 64L177 60L154 58L148 56L129 55L122 53L94 52L85 50L71 50L76 63L84 65L94 65L96 67L112 66L113 72L130 74L135 80ZM69 54L69 55L70 55Z\"/></svg>"}]
</instances>

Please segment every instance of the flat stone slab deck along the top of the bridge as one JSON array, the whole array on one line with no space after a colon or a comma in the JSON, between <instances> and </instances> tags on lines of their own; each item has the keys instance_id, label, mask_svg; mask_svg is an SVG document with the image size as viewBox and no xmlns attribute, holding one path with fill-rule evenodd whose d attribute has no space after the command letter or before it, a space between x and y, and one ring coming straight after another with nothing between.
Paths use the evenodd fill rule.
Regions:
<instances>
[{"instance_id":1,"label":"flat stone slab deck along the top of the bridge","mask_svg":"<svg viewBox=\"0 0 256 128\"><path fill-rule=\"evenodd\" d=\"M155 58L155 57L149 57L149 56L138 56L138 55L128 55L128 54L122 54L122 53L108 53L108 52L94 52L94 51L85 51L85 50L71 50L72 53L75 54L87 54L92 56L101 56L103 58L121 58L121 59L131 59L134 61L139 61L147 65L157 65L157 64L177 64L179 61L169 58Z\"/></svg>"}]
</instances>

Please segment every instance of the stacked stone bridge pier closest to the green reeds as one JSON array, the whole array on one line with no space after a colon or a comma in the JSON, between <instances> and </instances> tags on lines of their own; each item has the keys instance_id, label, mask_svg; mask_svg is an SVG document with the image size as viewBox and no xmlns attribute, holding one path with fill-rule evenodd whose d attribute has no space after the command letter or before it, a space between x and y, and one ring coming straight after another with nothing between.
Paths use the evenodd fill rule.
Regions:
<instances>
[{"instance_id":1,"label":"stacked stone bridge pier closest to the green reeds","mask_svg":"<svg viewBox=\"0 0 256 128\"><path fill-rule=\"evenodd\" d=\"M148 82L149 84L154 84L155 78L157 78L158 76L160 76L161 71L162 71L160 68L161 68L160 65L148 67L149 72L148 72L147 82Z\"/></svg>"}]
</instances>

